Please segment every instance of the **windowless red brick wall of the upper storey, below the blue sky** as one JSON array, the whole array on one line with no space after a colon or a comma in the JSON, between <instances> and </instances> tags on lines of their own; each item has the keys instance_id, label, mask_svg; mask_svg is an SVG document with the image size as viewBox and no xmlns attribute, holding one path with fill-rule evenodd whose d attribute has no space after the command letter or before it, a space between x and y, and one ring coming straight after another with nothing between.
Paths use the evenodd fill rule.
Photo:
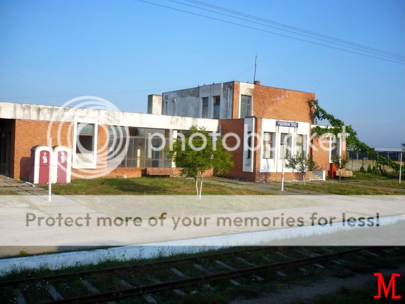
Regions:
<instances>
[{"instance_id":1,"label":"windowless red brick wall of the upper storey, below the blue sky","mask_svg":"<svg viewBox=\"0 0 405 304\"><path fill-rule=\"evenodd\" d=\"M308 106L311 98L315 99L314 93L254 85L253 115L313 123L312 111Z\"/></svg>"}]
</instances>

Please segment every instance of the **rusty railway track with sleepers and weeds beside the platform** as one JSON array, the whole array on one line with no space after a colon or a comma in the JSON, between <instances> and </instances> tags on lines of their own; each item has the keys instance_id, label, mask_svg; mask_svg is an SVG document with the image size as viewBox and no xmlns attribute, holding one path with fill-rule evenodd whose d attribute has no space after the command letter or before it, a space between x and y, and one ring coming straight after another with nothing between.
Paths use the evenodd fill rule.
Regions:
<instances>
[{"instance_id":1,"label":"rusty railway track with sleepers and weeds beside the platform","mask_svg":"<svg viewBox=\"0 0 405 304\"><path fill-rule=\"evenodd\" d=\"M190 288L203 292L213 290L216 282L227 282L235 287L242 281L261 283L267 274L286 277L283 269L310 272L324 269L328 263L344 264L344 256L364 254L379 256L379 247L361 247L337 250L336 247L318 247L311 251L303 247L256 247L204 254L199 256L138 263L59 274L30 277L0 282L0 289L25 303L93 303L115 301L157 303L159 297L186 296ZM400 249L398 249L400 250ZM310 265L311 268L304 267ZM263 277L264 275L264 277Z\"/></svg>"}]
</instances>

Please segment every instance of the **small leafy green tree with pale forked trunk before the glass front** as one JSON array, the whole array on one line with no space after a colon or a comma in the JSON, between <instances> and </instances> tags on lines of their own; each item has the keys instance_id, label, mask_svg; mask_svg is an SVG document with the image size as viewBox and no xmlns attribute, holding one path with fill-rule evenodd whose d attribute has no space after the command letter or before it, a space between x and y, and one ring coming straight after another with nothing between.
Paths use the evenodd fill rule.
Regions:
<instances>
[{"instance_id":1,"label":"small leafy green tree with pale forked trunk before the glass front","mask_svg":"<svg viewBox=\"0 0 405 304\"><path fill-rule=\"evenodd\" d=\"M172 149L166 148L165 152L180 168L182 176L194 178L197 197L201 199L204 172L214 168L216 175L229 173L234 163L232 154L223 146L222 135L210 136L205 127L191 126L189 130L184 141L175 140Z\"/></svg>"}]
</instances>

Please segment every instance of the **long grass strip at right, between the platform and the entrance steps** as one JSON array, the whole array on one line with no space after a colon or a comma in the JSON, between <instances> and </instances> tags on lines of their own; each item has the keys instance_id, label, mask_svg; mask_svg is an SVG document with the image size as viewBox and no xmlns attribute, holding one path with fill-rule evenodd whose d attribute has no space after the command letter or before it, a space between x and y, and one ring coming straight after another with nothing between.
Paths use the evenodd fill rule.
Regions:
<instances>
[{"instance_id":1,"label":"long grass strip at right, between the platform and the entrance steps","mask_svg":"<svg viewBox=\"0 0 405 304\"><path fill-rule=\"evenodd\" d=\"M354 183L339 183L337 181L306 183L305 186L302 183L286 183L284 185L286 186L286 190L294 188L343 195L405 194L400 189L390 190L377 187L364 187Z\"/></svg>"}]
</instances>

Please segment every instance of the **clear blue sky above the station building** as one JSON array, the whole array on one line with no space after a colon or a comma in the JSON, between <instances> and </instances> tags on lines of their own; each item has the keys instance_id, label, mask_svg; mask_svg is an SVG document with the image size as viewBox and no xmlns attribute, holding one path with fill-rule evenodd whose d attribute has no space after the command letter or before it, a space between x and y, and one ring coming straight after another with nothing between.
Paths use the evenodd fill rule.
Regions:
<instances>
[{"instance_id":1,"label":"clear blue sky above the station building","mask_svg":"<svg viewBox=\"0 0 405 304\"><path fill-rule=\"evenodd\" d=\"M148 1L283 33L167 0ZM404 54L403 1L203 1ZM405 142L403 64L138 1L0 1L0 28L3 101L61 105L97 94L122 111L146 112L151 93L251 82L257 53L256 79L263 85L316 93L324 109L373 147Z\"/></svg>"}]
</instances>

